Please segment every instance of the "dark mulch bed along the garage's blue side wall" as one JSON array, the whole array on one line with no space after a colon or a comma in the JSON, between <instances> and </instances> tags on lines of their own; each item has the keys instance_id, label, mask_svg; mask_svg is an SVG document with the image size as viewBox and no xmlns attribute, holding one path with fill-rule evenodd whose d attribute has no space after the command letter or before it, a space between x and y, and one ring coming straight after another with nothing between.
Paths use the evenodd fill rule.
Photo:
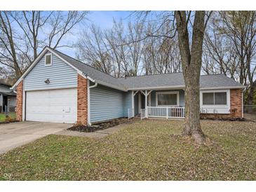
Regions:
<instances>
[{"instance_id":1,"label":"dark mulch bed along the garage's blue side wall","mask_svg":"<svg viewBox=\"0 0 256 192\"><path fill-rule=\"evenodd\" d=\"M105 130L107 128L112 128L112 127L122 124L122 123L128 123L128 118L115 118L111 121L95 123L91 126L76 124L73 127L68 128L67 130L74 130L74 131L79 131L79 132L95 132L97 130Z\"/></svg>"}]
</instances>

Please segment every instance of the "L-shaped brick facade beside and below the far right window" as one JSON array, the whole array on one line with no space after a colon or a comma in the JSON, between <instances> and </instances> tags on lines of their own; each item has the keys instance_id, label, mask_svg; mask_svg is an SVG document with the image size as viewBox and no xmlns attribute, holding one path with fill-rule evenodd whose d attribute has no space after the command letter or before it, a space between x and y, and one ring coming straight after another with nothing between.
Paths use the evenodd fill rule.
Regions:
<instances>
[{"instance_id":1,"label":"L-shaped brick facade beside and below the far right window","mask_svg":"<svg viewBox=\"0 0 256 192\"><path fill-rule=\"evenodd\" d=\"M242 118L243 117L243 90L230 90L230 114L201 114L201 118Z\"/></svg>"}]
</instances>

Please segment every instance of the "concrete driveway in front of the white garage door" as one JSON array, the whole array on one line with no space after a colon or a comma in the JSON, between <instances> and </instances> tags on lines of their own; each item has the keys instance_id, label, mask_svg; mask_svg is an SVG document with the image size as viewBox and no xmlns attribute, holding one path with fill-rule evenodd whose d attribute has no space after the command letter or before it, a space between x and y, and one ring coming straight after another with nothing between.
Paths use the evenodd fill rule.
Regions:
<instances>
[{"instance_id":1,"label":"concrete driveway in front of the white garage door","mask_svg":"<svg viewBox=\"0 0 256 192\"><path fill-rule=\"evenodd\" d=\"M41 123L25 121L0 125L0 154L22 146L46 135L55 134L67 128L71 124Z\"/></svg>"}]
</instances>

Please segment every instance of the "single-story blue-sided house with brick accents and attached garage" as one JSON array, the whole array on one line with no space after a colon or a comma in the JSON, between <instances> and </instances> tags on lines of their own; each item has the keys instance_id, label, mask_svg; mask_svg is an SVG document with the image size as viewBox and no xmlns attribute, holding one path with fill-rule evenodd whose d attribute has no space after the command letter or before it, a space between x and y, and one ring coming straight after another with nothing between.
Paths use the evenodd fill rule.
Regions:
<instances>
[{"instance_id":1,"label":"single-story blue-sided house with brick accents and attached garage","mask_svg":"<svg viewBox=\"0 0 256 192\"><path fill-rule=\"evenodd\" d=\"M200 84L202 113L243 117L243 85L222 74L201 76ZM13 85L19 121L83 124L184 118L184 88L182 73L114 78L48 47Z\"/></svg>"}]
</instances>

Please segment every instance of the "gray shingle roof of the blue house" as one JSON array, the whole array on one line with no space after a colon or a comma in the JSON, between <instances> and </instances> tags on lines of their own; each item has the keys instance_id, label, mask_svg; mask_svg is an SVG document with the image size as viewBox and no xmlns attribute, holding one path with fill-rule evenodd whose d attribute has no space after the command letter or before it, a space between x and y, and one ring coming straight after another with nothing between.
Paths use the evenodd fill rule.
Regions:
<instances>
[{"instance_id":1,"label":"gray shingle roof of the blue house","mask_svg":"<svg viewBox=\"0 0 256 192\"><path fill-rule=\"evenodd\" d=\"M53 50L53 49L51 49ZM107 84L113 88L120 90L135 90L140 88L184 88L184 78L182 73L173 74L157 74L157 75L147 75L147 76L131 76L127 78L114 78L109 74L105 74L88 64L75 60L68 55L65 55L58 50L53 50L64 60L72 64L74 67L82 71L84 74L93 78L97 83ZM203 75L200 77L200 87L201 88L231 88L231 87L241 87L243 85L234 81L233 79L224 76L224 74L217 75Z\"/></svg>"}]
</instances>

